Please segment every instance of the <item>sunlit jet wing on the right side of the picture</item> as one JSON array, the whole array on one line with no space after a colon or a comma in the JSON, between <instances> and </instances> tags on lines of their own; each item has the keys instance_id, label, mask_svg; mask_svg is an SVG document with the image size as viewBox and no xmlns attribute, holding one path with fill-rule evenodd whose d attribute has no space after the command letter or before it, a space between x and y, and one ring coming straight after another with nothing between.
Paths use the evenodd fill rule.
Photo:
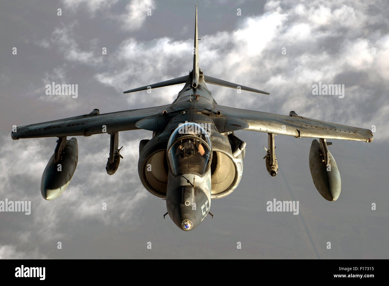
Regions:
<instances>
[{"instance_id":1,"label":"sunlit jet wing on the right side of the picture","mask_svg":"<svg viewBox=\"0 0 389 286\"><path fill-rule=\"evenodd\" d=\"M311 118L298 116L291 112L291 116L267 112L252 111L214 104L214 111L220 111L220 116L226 118L221 128L228 132L233 130L252 130L258 132L290 135L297 138L343 139L356 141L373 141L371 130L352 126L329 123ZM241 128L239 128L239 126ZM220 128L218 128L220 129Z\"/></svg>"}]
</instances>

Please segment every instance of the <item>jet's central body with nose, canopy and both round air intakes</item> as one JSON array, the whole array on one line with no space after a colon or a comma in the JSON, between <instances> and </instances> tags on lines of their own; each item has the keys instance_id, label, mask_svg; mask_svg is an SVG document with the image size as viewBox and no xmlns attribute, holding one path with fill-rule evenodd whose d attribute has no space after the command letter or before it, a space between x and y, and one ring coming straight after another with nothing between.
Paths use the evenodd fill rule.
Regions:
<instances>
[{"instance_id":1,"label":"jet's central body with nose, canopy and both round air intakes","mask_svg":"<svg viewBox=\"0 0 389 286\"><path fill-rule=\"evenodd\" d=\"M198 226L211 199L230 194L242 176L244 152L232 155L234 135L215 127L214 104L202 73L196 88L189 76L166 127L140 143L140 179L152 194L166 198L170 218L183 230Z\"/></svg>"}]
</instances>

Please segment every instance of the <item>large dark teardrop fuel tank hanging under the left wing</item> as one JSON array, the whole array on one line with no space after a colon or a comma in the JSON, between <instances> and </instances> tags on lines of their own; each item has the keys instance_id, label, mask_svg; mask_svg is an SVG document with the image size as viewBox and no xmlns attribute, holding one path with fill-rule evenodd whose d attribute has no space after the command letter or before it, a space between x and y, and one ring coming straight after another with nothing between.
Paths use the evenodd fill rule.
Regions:
<instances>
[{"instance_id":1,"label":"large dark teardrop fuel tank hanging under the left wing","mask_svg":"<svg viewBox=\"0 0 389 286\"><path fill-rule=\"evenodd\" d=\"M73 137L67 140L65 147L58 155L59 158L56 158L54 151L42 174L40 192L45 200L58 198L69 185L78 162L77 139Z\"/></svg>"}]
</instances>

